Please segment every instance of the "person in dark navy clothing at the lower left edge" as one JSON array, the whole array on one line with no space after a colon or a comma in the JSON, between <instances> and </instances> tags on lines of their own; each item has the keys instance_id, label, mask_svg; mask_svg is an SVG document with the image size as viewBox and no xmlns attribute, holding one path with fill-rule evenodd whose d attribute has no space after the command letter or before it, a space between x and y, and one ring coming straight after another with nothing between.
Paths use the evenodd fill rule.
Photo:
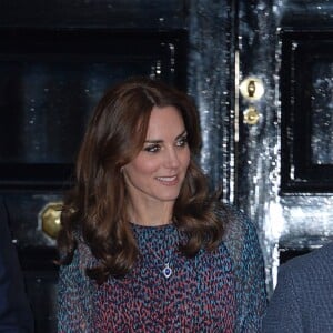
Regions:
<instances>
[{"instance_id":1,"label":"person in dark navy clothing at the lower left edge","mask_svg":"<svg viewBox=\"0 0 333 333\"><path fill-rule=\"evenodd\" d=\"M24 291L8 215L0 198L0 333L33 332L33 316Z\"/></svg>"}]
</instances>

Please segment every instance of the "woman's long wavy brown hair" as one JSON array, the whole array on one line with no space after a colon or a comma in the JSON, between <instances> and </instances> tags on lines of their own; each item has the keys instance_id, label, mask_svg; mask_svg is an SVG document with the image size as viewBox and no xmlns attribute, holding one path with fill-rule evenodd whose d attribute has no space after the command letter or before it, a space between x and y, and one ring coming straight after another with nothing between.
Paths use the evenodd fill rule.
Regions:
<instances>
[{"instance_id":1,"label":"woman's long wavy brown hair","mask_svg":"<svg viewBox=\"0 0 333 333\"><path fill-rule=\"evenodd\" d=\"M141 150L153 107L175 107L184 121L191 161L173 223L186 235L180 251L191 258L201 248L214 250L223 235L215 215L219 201L210 195L208 180L195 162L201 147L199 115L183 92L160 81L132 78L102 97L81 144L74 188L64 199L58 246L60 264L72 261L80 234L99 260L88 276L103 283L108 276L124 276L139 256L127 213L127 188L121 168ZM78 233L79 232L79 233Z\"/></svg>"}]
</instances>

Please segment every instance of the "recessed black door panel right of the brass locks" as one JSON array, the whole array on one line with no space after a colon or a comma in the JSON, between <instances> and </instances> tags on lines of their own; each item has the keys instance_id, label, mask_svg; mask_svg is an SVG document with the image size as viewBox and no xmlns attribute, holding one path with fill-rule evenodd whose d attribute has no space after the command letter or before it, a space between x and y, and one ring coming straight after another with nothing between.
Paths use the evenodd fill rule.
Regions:
<instances>
[{"instance_id":1,"label":"recessed black door panel right of the brass locks","mask_svg":"<svg viewBox=\"0 0 333 333\"><path fill-rule=\"evenodd\" d=\"M333 31L282 30L281 192L332 193Z\"/></svg>"}]
</instances>

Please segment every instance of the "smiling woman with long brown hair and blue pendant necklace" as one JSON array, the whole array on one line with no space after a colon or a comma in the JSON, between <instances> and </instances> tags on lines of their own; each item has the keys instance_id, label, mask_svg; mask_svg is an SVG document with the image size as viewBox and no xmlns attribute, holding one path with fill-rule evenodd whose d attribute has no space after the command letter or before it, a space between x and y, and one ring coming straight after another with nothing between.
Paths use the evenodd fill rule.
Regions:
<instances>
[{"instance_id":1,"label":"smiling woman with long brown hair and blue pendant necklace","mask_svg":"<svg viewBox=\"0 0 333 333\"><path fill-rule=\"evenodd\" d=\"M258 332L265 309L253 225L209 194L199 118L144 78L99 102L59 235L60 332Z\"/></svg>"}]
</instances>

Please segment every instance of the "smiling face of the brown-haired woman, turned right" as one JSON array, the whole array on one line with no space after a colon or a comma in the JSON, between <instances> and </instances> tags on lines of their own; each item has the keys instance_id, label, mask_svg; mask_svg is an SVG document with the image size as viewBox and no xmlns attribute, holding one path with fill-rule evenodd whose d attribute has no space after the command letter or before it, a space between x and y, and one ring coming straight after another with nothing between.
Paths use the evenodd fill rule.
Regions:
<instances>
[{"instance_id":1,"label":"smiling face of the brown-haired woman, turned right","mask_svg":"<svg viewBox=\"0 0 333 333\"><path fill-rule=\"evenodd\" d=\"M186 130L174 107L154 107L143 149L123 167L132 202L174 202L190 163Z\"/></svg>"}]
</instances>

